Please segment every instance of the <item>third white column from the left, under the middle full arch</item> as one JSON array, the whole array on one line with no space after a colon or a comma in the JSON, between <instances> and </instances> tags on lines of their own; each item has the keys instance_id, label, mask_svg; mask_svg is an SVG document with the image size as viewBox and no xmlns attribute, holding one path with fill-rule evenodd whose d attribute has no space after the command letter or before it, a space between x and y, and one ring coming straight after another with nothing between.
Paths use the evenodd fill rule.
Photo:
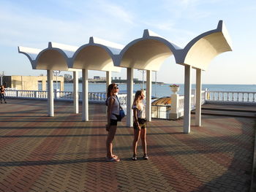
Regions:
<instances>
[{"instance_id":1,"label":"third white column from the left, under the middle full arch","mask_svg":"<svg viewBox=\"0 0 256 192\"><path fill-rule=\"evenodd\" d=\"M88 99L88 69L82 70L83 76L83 110L82 110L82 120L89 120L89 99Z\"/></svg>"}]
</instances>

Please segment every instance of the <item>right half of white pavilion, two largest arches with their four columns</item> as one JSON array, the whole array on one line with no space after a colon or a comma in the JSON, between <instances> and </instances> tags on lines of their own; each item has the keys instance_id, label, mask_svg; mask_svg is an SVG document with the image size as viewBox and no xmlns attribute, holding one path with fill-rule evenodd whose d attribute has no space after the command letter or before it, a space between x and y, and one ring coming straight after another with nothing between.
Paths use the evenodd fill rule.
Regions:
<instances>
[{"instance_id":1,"label":"right half of white pavilion, two largest arches with their four columns","mask_svg":"<svg viewBox=\"0 0 256 192\"><path fill-rule=\"evenodd\" d=\"M127 68L127 126L132 126L133 69L147 71L146 117L151 120L151 71L159 70L165 58L174 55L176 64L184 65L184 133L190 132L191 69L197 71L196 80L196 126L201 125L201 72L211 60L231 50L230 38L222 22L216 29L192 39L183 49L163 37L145 30L143 37L130 42L118 55L116 66Z\"/></svg>"}]
</instances>

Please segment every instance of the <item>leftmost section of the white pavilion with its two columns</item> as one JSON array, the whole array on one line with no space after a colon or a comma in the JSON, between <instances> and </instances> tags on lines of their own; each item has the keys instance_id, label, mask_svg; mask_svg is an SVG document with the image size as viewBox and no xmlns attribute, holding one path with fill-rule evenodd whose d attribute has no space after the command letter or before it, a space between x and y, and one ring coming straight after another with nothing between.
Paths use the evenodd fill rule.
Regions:
<instances>
[{"instance_id":1,"label":"leftmost section of the white pavilion with its two columns","mask_svg":"<svg viewBox=\"0 0 256 192\"><path fill-rule=\"evenodd\" d=\"M54 116L53 70L73 72L74 112L78 113L78 71L68 68L68 63L78 47L49 42L48 48L39 50L31 47L18 47L18 52L29 58L32 69L47 70L48 77L48 116Z\"/></svg>"}]
</instances>

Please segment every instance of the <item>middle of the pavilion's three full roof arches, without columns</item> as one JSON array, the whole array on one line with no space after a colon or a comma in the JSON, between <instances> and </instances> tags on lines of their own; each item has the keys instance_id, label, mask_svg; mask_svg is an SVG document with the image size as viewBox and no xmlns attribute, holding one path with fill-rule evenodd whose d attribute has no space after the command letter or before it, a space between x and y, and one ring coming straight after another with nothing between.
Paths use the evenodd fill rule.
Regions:
<instances>
[{"instance_id":1,"label":"middle of the pavilion's three full roof arches, without columns","mask_svg":"<svg viewBox=\"0 0 256 192\"><path fill-rule=\"evenodd\" d=\"M69 66L75 69L119 72L121 69L114 66L114 62L122 47L113 42L90 37L89 44L82 45L76 50Z\"/></svg>"}]
</instances>

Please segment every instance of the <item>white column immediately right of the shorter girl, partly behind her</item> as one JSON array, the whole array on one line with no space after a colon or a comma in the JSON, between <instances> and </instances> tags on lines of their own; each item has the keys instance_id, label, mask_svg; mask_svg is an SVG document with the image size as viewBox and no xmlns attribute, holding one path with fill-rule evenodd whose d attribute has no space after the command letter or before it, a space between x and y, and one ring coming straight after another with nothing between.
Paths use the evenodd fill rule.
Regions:
<instances>
[{"instance_id":1,"label":"white column immediately right of the shorter girl, partly behind her","mask_svg":"<svg viewBox=\"0 0 256 192\"><path fill-rule=\"evenodd\" d=\"M151 70L147 70L147 86L146 86L146 118L148 121L151 121L151 90L152 90L152 82L151 82Z\"/></svg>"}]
</instances>

